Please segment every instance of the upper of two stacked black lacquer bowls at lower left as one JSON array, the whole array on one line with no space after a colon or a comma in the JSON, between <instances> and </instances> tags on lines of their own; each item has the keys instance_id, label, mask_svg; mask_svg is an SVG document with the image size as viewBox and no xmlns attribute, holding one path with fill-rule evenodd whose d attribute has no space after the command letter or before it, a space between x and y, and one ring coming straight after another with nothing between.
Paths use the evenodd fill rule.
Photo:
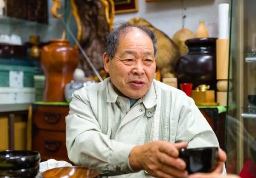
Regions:
<instances>
[{"instance_id":1,"label":"upper of two stacked black lacquer bowls at lower left","mask_svg":"<svg viewBox=\"0 0 256 178\"><path fill-rule=\"evenodd\" d=\"M0 171L32 168L38 166L39 162L39 152L30 150L7 150L0 152Z\"/></svg>"}]
</instances>

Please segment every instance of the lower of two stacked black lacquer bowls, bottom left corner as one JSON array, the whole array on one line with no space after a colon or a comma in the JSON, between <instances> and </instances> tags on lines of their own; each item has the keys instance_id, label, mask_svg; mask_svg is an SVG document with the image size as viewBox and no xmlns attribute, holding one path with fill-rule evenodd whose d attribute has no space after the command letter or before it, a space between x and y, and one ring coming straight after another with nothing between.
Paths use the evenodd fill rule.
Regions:
<instances>
[{"instance_id":1,"label":"lower of two stacked black lacquer bowls, bottom left corner","mask_svg":"<svg viewBox=\"0 0 256 178\"><path fill-rule=\"evenodd\" d=\"M0 177L4 178L35 178L39 171L39 164L35 167L17 170L0 170Z\"/></svg>"}]
</instances>

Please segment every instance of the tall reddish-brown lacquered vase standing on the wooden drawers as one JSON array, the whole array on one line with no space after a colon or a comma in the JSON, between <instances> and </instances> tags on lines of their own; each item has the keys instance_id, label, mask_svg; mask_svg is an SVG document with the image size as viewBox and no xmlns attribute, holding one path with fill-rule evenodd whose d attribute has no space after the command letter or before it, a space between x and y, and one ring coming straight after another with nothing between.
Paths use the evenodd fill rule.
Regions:
<instances>
[{"instance_id":1,"label":"tall reddish-brown lacquered vase standing on the wooden drawers","mask_svg":"<svg viewBox=\"0 0 256 178\"><path fill-rule=\"evenodd\" d=\"M50 40L41 51L41 66L46 78L43 101L64 102L64 88L73 79L78 65L78 50L69 40Z\"/></svg>"}]
</instances>

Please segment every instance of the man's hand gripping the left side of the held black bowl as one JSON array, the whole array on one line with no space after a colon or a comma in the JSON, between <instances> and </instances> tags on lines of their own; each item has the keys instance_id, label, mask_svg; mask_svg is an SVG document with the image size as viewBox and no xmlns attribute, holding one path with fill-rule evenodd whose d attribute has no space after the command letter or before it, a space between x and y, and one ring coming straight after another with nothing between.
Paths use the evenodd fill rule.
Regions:
<instances>
[{"instance_id":1,"label":"man's hand gripping the left side of the held black bowl","mask_svg":"<svg viewBox=\"0 0 256 178\"><path fill-rule=\"evenodd\" d=\"M185 142L172 144L165 141L138 145L131 150L129 164L134 171L144 169L155 177L186 177L186 163L178 158L178 149L187 146Z\"/></svg>"}]
</instances>

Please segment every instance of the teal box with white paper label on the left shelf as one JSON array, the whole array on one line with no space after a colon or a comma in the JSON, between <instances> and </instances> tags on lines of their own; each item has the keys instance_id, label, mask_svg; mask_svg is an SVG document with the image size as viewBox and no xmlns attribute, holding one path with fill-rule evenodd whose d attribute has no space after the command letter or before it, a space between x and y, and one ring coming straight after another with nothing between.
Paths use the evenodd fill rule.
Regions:
<instances>
[{"instance_id":1,"label":"teal box with white paper label on the left shelf","mask_svg":"<svg viewBox=\"0 0 256 178\"><path fill-rule=\"evenodd\" d=\"M34 87L34 67L0 65L0 87L9 87L9 71L23 71L23 87Z\"/></svg>"}]
</instances>

